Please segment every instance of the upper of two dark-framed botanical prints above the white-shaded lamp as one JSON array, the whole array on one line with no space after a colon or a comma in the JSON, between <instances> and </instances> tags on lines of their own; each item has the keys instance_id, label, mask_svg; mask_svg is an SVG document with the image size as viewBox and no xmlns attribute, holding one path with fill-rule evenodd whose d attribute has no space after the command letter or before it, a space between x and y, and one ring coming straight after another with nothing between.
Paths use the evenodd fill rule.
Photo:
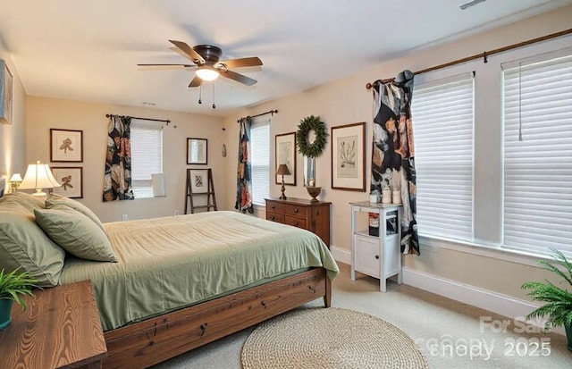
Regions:
<instances>
[{"instance_id":1,"label":"upper of two dark-framed botanical prints above the white-shaded lamp","mask_svg":"<svg viewBox=\"0 0 572 369\"><path fill-rule=\"evenodd\" d=\"M83 162L83 130L50 129L50 162Z\"/></svg>"}]
</instances>

